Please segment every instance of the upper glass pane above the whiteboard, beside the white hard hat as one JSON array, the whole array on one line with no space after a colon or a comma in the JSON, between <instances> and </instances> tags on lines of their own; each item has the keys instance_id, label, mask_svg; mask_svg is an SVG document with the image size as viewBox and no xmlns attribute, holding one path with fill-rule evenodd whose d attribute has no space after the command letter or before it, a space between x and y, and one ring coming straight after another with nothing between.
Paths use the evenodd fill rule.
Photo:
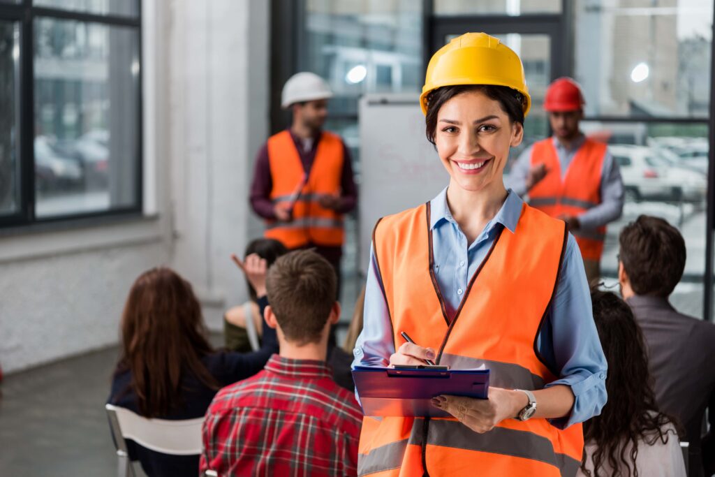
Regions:
<instances>
[{"instance_id":1,"label":"upper glass pane above the whiteboard, beside the white hard hat","mask_svg":"<svg viewBox=\"0 0 715 477\"><path fill-rule=\"evenodd\" d=\"M330 83L331 114L357 119L364 93L420 91L420 2L308 0L306 9L300 69Z\"/></svg>"}]
</instances>

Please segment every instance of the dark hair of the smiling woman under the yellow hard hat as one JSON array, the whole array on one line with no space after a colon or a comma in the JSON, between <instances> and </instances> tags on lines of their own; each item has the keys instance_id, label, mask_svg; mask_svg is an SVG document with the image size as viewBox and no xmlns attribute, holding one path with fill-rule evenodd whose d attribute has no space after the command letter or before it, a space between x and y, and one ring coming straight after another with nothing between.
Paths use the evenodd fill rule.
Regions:
<instances>
[{"instance_id":1,"label":"dark hair of the smiling woman under the yellow hard hat","mask_svg":"<svg viewBox=\"0 0 715 477\"><path fill-rule=\"evenodd\" d=\"M498 101L501 109L505 112L509 120L514 123L524 124L524 106L526 97L523 94L506 86L494 86L492 84L459 84L457 86L445 86L430 92L427 97L427 114L425 115L425 133L427 139L435 144L435 133L437 131L437 114L443 105L459 94L478 91L487 95L490 99Z\"/></svg>"}]
</instances>

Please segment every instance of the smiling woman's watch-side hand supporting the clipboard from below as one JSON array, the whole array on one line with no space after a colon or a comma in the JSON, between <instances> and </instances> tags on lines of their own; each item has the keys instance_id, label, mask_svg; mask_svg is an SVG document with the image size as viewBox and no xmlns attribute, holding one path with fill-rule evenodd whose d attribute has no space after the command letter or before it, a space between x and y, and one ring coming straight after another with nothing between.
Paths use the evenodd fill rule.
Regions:
<instances>
[{"instance_id":1,"label":"smiling woman's watch-side hand supporting the clipboard from below","mask_svg":"<svg viewBox=\"0 0 715 477\"><path fill-rule=\"evenodd\" d=\"M515 418L528 403L525 393L502 388L489 388L488 399L451 395L439 395L432 399L436 408L447 411L460 423L480 434L491 431L505 419Z\"/></svg>"}]
</instances>

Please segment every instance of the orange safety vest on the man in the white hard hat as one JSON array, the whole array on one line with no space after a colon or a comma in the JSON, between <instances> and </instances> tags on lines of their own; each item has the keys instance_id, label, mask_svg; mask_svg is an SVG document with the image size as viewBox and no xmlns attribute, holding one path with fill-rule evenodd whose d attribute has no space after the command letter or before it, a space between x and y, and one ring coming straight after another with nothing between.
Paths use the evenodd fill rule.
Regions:
<instances>
[{"instance_id":1,"label":"orange safety vest on the man in the white hard hat","mask_svg":"<svg viewBox=\"0 0 715 477\"><path fill-rule=\"evenodd\" d=\"M345 238L342 214L322 207L320 196L340 192L343 146L337 134L322 132L317 144L310 175L305 177L300 155L290 132L282 131L268 138L268 162L273 188L270 198L274 205L295 201L292 221L266 221L265 237L280 240L287 248L308 244L339 247ZM297 187L305 185L297 195ZM297 197L296 197L297 195Z\"/></svg>"}]
</instances>

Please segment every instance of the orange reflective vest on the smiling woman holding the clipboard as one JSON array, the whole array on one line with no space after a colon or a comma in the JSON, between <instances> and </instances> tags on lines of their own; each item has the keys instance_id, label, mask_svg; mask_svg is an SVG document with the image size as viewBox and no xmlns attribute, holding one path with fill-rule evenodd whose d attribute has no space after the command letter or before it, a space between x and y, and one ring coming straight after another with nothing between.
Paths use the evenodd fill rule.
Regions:
<instances>
[{"instance_id":1,"label":"orange reflective vest on the smiling woman holding the clipboard","mask_svg":"<svg viewBox=\"0 0 715 477\"><path fill-rule=\"evenodd\" d=\"M395 343L406 331L439 350L438 364L485 365L500 388L537 390L556 380L536 338L566 249L563 222L525 204L516 231L497 237L452 320L433 275L429 224L426 204L383 218L373 232ZM454 418L366 416L358 475L575 476L582 451L581 424L561 431L546 419L507 419L479 434Z\"/></svg>"}]
</instances>

